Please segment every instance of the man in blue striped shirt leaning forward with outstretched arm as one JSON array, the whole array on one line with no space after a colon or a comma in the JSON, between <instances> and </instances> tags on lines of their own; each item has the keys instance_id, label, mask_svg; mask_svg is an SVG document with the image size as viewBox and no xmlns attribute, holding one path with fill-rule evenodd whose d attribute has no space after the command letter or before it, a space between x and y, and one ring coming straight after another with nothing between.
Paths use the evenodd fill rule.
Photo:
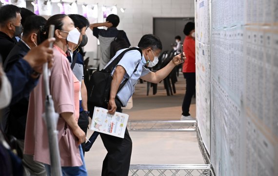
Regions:
<instances>
[{"instance_id":1,"label":"man in blue striped shirt leaning forward with outstretched arm","mask_svg":"<svg viewBox=\"0 0 278 176\"><path fill-rule=\"evenodd\" d=\"M175 56L164 68L154 73L144 66L153 67L158 63L158 56L162 50L160 39L152 34L144 35L140 39L138 47L142 50L142 57L138 50L128 51L113 70L110 99L108 103L108 113L110 114L114 114L116 111L122 111L121 107L126 106L128 99L134 92L139 78L149 82L159 83L161 80L166 78L167 75L169 75L176 65L183 62L183 59L181 59L179 54ZM119 50L111 61L117 58L117 56L119 56L119 54L124 50L125 49ZM138 68L134 72L137 65ZM129 78L128 81L117 93L120 83L126 78ZM101 175L128 176L132 152L132 140L127 129L125 131L124 138L114 137L102 133L100 134L100 137L108 152L103 161Z\"/></svg>"}]
</instances>

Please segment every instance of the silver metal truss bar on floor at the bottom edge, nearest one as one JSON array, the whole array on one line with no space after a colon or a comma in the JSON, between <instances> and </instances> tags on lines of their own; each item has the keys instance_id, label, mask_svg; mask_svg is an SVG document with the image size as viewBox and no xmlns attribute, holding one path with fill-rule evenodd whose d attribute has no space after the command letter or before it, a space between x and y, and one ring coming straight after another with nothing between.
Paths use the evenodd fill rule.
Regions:
<instances>
[{"instance_id":1,"label":"silver metal truss bar on floor at the bottom edge, nearest one","mask_svg":"<svg viewBox=\"0 0 278 176\"><path fill-rule=\"evenodd\" d=\"M129 176L211 176L210 164L130 165Z\"/></svg>"}]
</instances>

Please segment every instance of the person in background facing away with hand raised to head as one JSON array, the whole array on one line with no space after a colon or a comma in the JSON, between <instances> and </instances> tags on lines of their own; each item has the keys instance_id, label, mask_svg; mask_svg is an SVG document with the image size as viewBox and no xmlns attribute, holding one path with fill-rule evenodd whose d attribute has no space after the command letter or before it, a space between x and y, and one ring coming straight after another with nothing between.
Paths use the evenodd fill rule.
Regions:
<instances>
[{"instance_id":1,"label":"person in background facing away with hand raised to head","mask_svg":"<svg viewBox=\"0 0 278 176\"><path fill-rule=\"evenodd\" d=\"M106 22L90 24L90 29L93 30L93 35L99 39L100 44L100 59L99 59L99 70L102 70L105 65L111 59L110 44L118 36L119 31L117 26L119 25L119 16L111 14L106 18ZM107 30L99 29L98 27L108 27ZM126 40L128 47L130 42L127 39L126 33L122 31L122 38Z\"/></svg>"}]
</instances>

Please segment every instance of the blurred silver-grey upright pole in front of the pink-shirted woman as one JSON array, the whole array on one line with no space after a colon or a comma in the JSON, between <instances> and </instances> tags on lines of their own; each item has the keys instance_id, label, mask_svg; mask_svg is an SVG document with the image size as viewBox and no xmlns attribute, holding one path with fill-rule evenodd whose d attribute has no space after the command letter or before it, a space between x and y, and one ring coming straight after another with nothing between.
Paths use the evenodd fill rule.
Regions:
<instances>
[{"instance_id":1,"label":"blurred silver-grey upright pole in front of the pink-shirted woman","mask_svg":"<svg viewBox=\"0 0 278 176\"><path fill-rule=\"evenodd\" d=\"M48 38L51 38L54 36L54 29L55 29L55 26L50 25ZM52 45L53 45L53 43L51 43L49 47L52 48ZM43 114L43 118L44 118L44 120L46 122L46 126L47 126L50 163L51 163L50 164L51 175L52 176L62 176L60 151L59 151L59 145L58 145L58 131L57 131L57 123L58 123L59 114L55 113L53 99L52 99L52 96L50 95L49 70L48 70L47 62L43 65L43 83L44 83L44 91L45 91L45 113Z\"/></svg>"}]
</instances>

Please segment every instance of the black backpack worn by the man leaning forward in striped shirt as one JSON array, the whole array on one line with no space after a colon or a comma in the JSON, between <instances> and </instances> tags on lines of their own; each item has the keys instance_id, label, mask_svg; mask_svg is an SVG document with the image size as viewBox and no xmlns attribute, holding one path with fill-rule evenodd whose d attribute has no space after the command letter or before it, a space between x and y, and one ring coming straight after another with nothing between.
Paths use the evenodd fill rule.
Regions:
<instances>
[{"instance_id":1,"label":"black backpack worn by the man leaning forward in striped shirt","mask_svg":"<svg viewBox=\"0 0 278 176\"><path fill-rule=\"evenodd\" d=\"M102 69L101 71L95 71L91 78L88 85L88 110L90 112L90 117L93 115L93 111L95 106L102 107L107 109L108 102L109 102L109 96L110 96L110 87L111 87L111 81L112 81L112 71L116 65L118 65L120 59L123 57L123 55L131 50L138 50L142 57L142 51L139 48L129 48L124 50L122 53L119 54L117 58L115 58L105 69ZM139 62L140 63L140 62ZM137 67L139 65L137 64L134 72L137 70ZM133 73L134 73L133 72ZM120 85L118 92L120 89L124 86L124 84L127 82L128 78L125 79Z\"/></svg>"}]
</instances>

